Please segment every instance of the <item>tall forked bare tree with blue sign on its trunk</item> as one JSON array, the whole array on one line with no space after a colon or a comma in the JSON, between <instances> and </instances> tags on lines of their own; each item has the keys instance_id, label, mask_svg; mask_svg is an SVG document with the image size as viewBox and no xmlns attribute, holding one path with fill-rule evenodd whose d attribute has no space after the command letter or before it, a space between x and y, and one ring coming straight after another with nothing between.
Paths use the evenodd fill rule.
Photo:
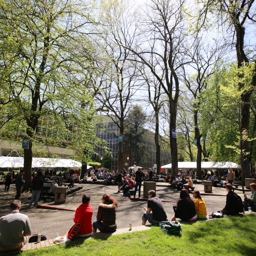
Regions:
<instances>
[{"instance_id":1,"label":"tall forked bare tree with blue sign on its trunk","mask_svg":"<svg viewBox=\"0 0 256 256\"><path fill-rule=\"evenodd\" d=\"M179 72L186 63L186 41L189 38L185 32L184 2L151 0L139 34L141 41L126 41L126 45L123 45L148 67L168 96L172 177L177 174L177 139L172 136L172 131L176 130Z\"/></svg>"}]
</instances>

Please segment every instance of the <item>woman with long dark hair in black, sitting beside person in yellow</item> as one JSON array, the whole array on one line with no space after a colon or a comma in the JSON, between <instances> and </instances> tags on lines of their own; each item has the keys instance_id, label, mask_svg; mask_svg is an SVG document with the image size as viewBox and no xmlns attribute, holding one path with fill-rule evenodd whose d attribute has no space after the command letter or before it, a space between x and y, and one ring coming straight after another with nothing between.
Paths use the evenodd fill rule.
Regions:
<instances>
[{"instance_id":1,"label":"woman with long dark hair in black, sitting beside person in yellow","mask_svg":"<svg viewBox=\"0 0 256 256\"><path fill-rule=\"evenodd\" d=\"M197 219L195 204L186 189L180 191L180 199L177 201L177 205L173 207L173 210L175 214L172 216L172 221L175 221L176 218L180 218L183 221L195 221Z\"/></svg>"}]
</instances>

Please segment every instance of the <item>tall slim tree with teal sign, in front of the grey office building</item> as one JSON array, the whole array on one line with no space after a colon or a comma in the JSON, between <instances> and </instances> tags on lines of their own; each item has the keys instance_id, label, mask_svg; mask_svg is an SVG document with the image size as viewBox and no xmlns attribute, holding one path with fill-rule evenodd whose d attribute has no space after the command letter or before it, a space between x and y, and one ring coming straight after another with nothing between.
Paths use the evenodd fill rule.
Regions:
<instances>
[{"instance_id":1,"label":"tall slim tree with teal sign, in front of the grey office building","mask_svg":"<svg viewBox=\"0 0 256 256\"><path fill-rule=\"evenodd\" d=\"M129 20L130 10L125 1L106 1L101 6L104 14L99 30L99 44L102 61L97 63L99 76L95 84L102 90L97 90L96 99L101 111L106 113L119 128L119 134L124 134L125 118L131 107L133 96L140 85L136 82L137 64L131 62L130 51L121 47L127 38L133 38L132 20ZM116 134L117 136L118 134ZM118 143L118 169L123 167L123 142Z\"/></svg>"}]
</instances>

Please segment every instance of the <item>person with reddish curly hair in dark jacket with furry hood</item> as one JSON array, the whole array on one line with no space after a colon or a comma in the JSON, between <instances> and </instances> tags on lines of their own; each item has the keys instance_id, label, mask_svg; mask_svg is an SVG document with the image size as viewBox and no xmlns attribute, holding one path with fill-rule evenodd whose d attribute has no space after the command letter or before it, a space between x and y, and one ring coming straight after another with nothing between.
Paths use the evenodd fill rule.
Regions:
<instances>
[{"instance_id":1,"label":"person with reddish curly hair in dark jacket with furry hood","mask_svg":"<svg viewBox=\"0 0 256 256\"><path fill-rule=\"evenodd\" d=\"M93 232L97 229L104 233L115 232L116 225L116 208L118 203L116 199L108 194L102 196L102 203L99 204L97 220L93 222Z\"/></svg>"}]
</instances>

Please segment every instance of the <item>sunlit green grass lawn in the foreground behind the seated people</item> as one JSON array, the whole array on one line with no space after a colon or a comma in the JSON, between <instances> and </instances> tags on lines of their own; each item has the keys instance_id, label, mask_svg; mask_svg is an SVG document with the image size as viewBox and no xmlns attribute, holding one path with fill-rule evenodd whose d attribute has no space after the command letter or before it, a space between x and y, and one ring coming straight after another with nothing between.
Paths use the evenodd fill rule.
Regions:
<instances>
[{"instance_id":1,"label":"sunlit green grass lawn in the foreground behind the seated people","mask_svg":"<svg viewBox=\"0 0 256 256\"><path fill-rule=\"evenodd\" d=\"M60 246L30 250L22 256L76 255L256 255L256 214L183 224L181 237L169 236L159 227L150 230L88 239ZM17 255L17 254L15 254Z\"/></svg>"}]
</instances>

